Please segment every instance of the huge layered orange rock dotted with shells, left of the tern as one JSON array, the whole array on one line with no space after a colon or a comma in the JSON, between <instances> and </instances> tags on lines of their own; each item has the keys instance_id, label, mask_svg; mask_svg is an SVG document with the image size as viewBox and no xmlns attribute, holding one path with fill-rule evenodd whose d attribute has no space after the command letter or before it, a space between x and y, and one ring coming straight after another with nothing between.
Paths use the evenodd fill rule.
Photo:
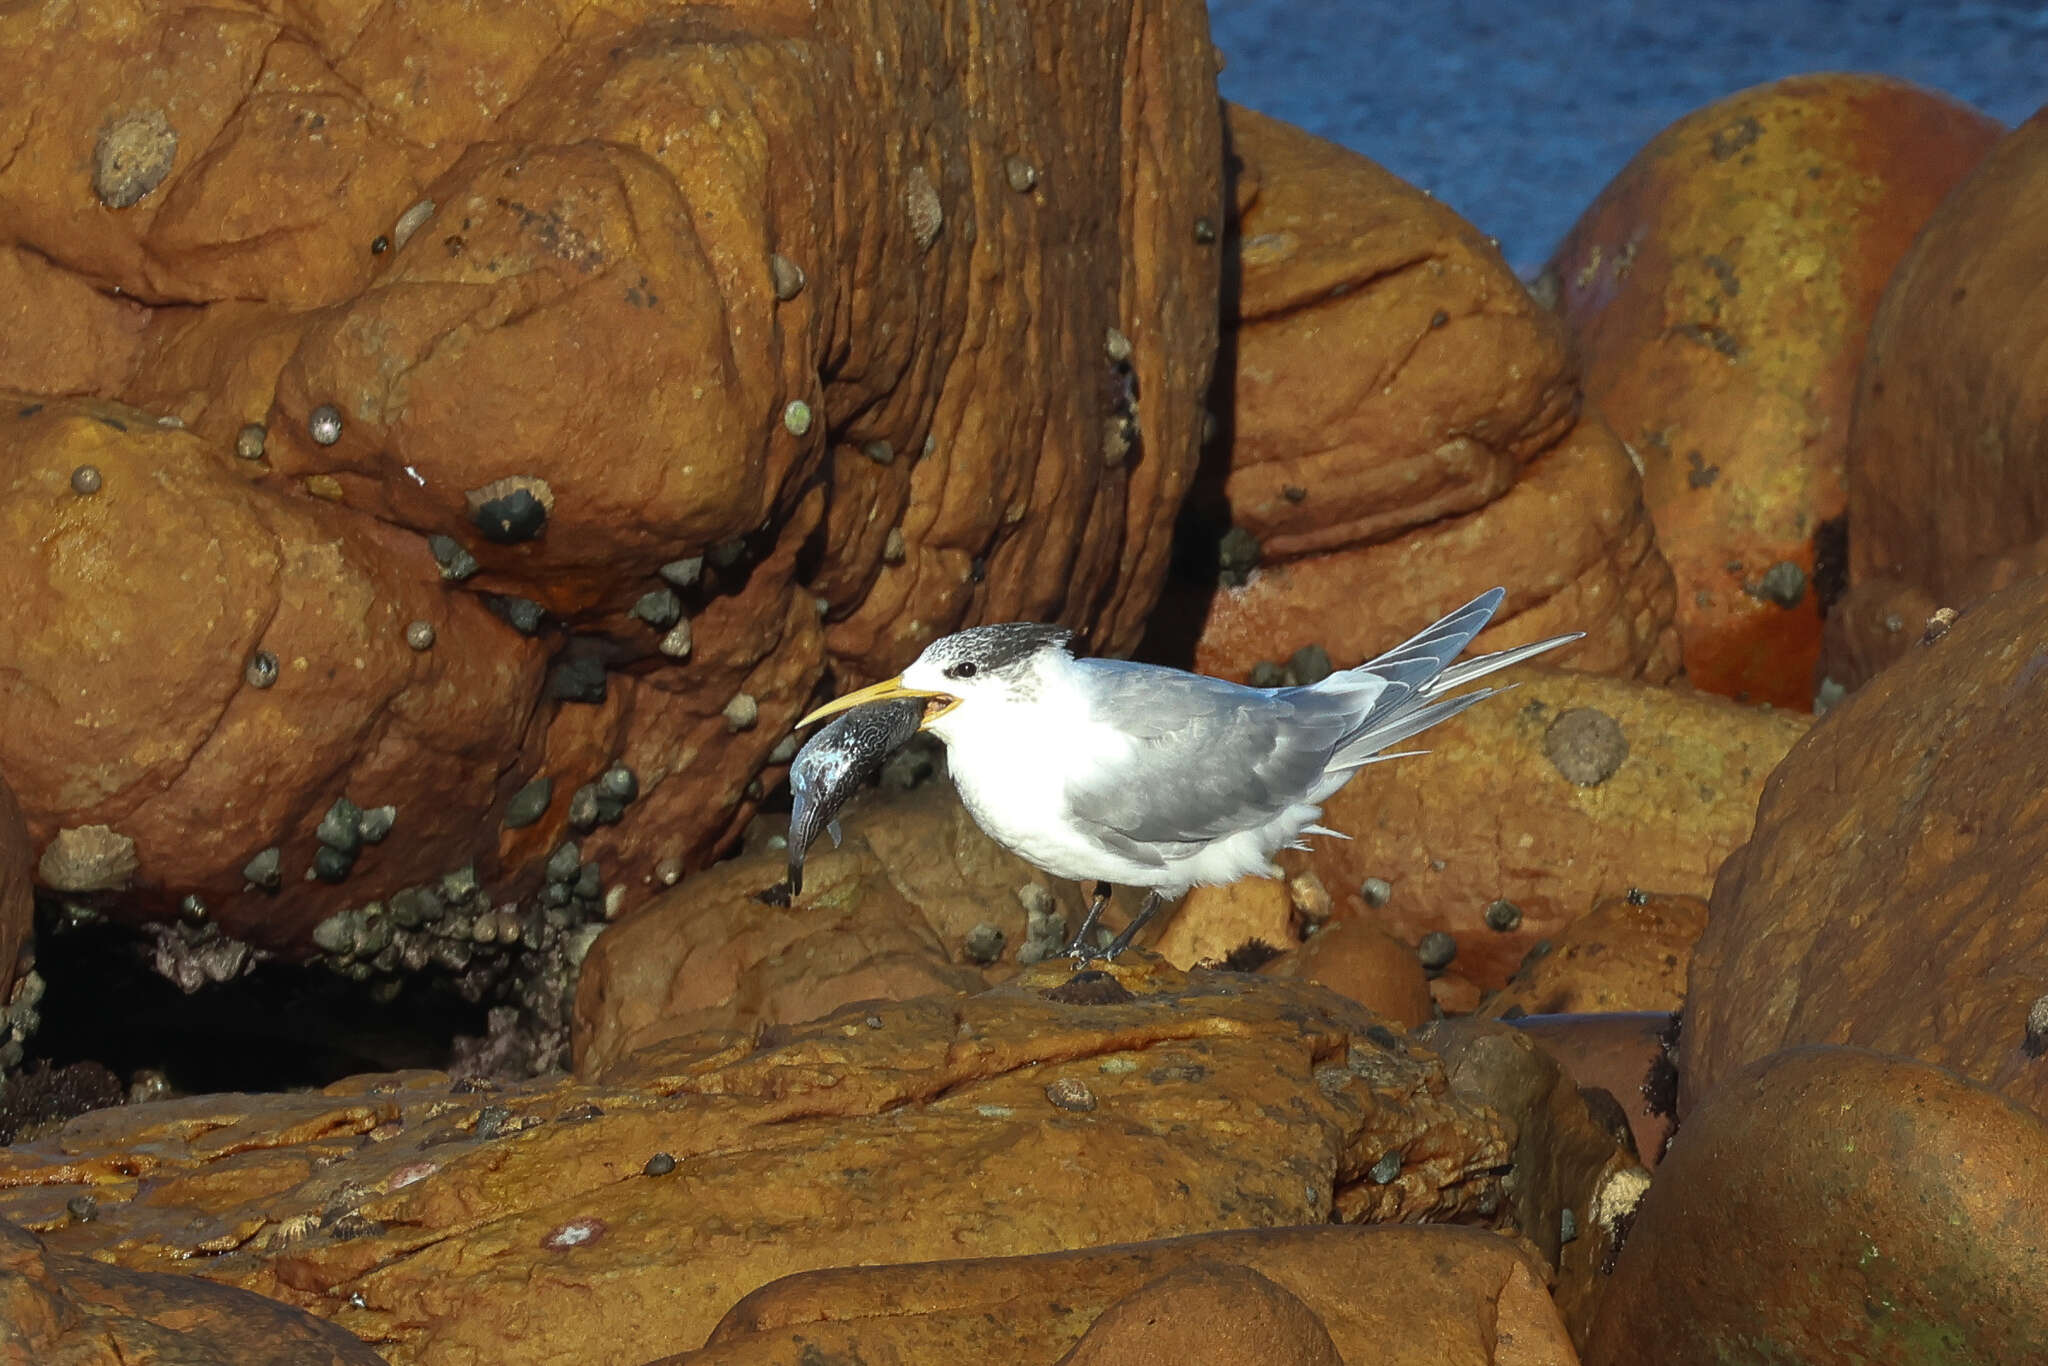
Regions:
<instances>
[{"instance_id":1,"label":"huge layered orange rock dotted with shells, left of the tern","mask_svg":"<svg viewBox=\"0 0 2048 1366\"><path fill-rule=\"evenodd\" d=\"M106 522L94 592L180 637L164 717L123 709L164 731L145 776L170 793L109 766L135 737L78 725L66 692L84 670L94 698L137 702L113 676L139 651L88 664L82 639L43 643L27 682L49 715L16 735L47 762L14 766L0 741L39 848L111 825L137 854L123 915L199 893L227 932L297 954L332 913L471 864L481 895L530 911L571 803L512 827L504 803L537 778L573 795L625 756L643 791L592 842L631 911L655 868L737 842L821 686L983 618L1135 645L1200 444L1221 258L1194 225L1221 221L1223 158L1202 6L1133 12L1063 16L1061 45L1090 55L1051 66L1030 25L977 29L956 90L926 76L981 23L958 4L909 27L829 10L678 29L627 4L565 29L553 10L324 2L289 25L104 6L12 25L0 215L18 250L0 285L35 305L31 330L45 309L80 319L78 338L0 338L0 371L139 410L90 410L121 440L55 408L0 432L6 469L104 477L90 510L18 477L8 526L35 547L59 510ZM850 53L885 49L893 76L872 86ZM1151 156L1167 141L1176 156ZM1032 195L1008 188L1018 156ZM1106 459L1110 420L1143 459ZM104 442L133 459L88 461ZM143 504L133 475L158 465L174 473ZM225 553L262 559L268 537L268 567L166 602L195 596L180 575L209 561L178 528L211 526L213 500ZM139 528L143 508L166 526ZM319 555L346 567L293 559ZM338 608L356 635L319 627L332 655L295 621L291 641L254 639L276 606L260 584L287 563L307 610L336 604L338 575L377 602ZM653 590L674 598L659 627L633 616ZM516 604L530 641L479 600ZM385 604L406 608L397 639L432 631L432 649L387 659ZM262 698L233 682L242 664ZM309 692L322 664L338 672ZM752 725L707 723L741 694ZM244 735L229 698L322 721L287 752L274 727ZM231 801L258 780L260 801ZM344 786L406 813L391 840L324 856L303 899L244 891L233 874L270 848L299 889L299 817ZM174 827L174 809L231 815Z\"/></svg>"}]
</instances>

